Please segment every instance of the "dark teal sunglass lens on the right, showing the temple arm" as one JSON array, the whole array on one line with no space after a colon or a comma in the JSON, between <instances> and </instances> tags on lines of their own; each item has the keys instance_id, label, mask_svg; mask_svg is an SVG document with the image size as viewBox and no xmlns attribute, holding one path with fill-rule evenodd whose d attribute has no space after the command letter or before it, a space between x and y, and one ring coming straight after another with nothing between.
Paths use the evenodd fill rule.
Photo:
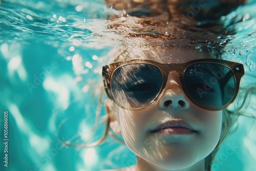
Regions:
<instances>
[{"instance_id":1,"label":"dark teal sunglass lens on the right, showing the temple arm","mask_svg":"<svg viewBox=\"0 0 256 171\"><path fill-rule=\"evenodd\" d=\"M190 98L206 108L221 108L229 103L235 91L232 70L218 63L197 63L184 73Z\"/></svg>"}]
</instances>

